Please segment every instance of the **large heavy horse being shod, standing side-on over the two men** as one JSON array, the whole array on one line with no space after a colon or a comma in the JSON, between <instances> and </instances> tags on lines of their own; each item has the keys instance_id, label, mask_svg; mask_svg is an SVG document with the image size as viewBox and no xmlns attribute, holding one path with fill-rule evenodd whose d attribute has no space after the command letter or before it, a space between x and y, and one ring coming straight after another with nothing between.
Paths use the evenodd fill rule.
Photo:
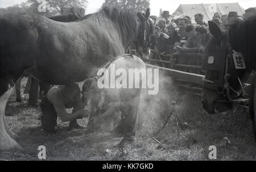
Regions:
<instances>
[{"instance_id":1,"label":"large heavy horse being shod, standing side-on over the two men","mask_svg":"<svg viewBox=\"0 0 256 172\"><path fill-rule=\"evenodd\" d=\"M0 14L0 150L20 148L5 121L5 107L23 71L65 85L90 78L131 43L146 58L154 33L149 16L149 9L142 14L109 7L71 23L27 12Z\"/></svg>"}]
</instances>

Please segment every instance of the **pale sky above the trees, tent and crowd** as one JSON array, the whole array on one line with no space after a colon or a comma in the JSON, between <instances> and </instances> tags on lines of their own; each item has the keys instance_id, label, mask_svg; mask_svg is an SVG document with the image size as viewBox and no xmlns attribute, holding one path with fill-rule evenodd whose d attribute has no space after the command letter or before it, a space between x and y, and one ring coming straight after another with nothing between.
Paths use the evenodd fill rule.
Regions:
<instances>
[{"instance_id":1,"label":"pale sky above the trees, tent and crowd","mask_svg":"<svg viewBox=\"0 0 256 172\"><path fill-rule=\"evenodd\" d=\"M27 0L0 0L0 8L13 6ZM88 0L86 14L96 12L104 0ZM159 15L159 9L168 10L170 14L174 12L180 3L234 3L238 2L243 8L256 7L256 0L150 0L151 15Z\"/></svg>"}]
</instances>

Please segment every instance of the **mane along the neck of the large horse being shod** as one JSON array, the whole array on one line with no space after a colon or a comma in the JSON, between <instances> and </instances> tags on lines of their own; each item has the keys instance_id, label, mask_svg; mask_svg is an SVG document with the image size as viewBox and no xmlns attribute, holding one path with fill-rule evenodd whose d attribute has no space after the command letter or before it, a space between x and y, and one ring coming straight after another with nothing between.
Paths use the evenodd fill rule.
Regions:
<instances>
[{"instance_id":1,"label":"mane along the neck of the large horse being shod","mask_svg":"<svg viewBox=\"0 0 256 172\"><path fill-rule=\"evenodd\" d=\"M108 22L106 19L113 21L115 26L125 36L125 38L134 37L137 31L136 18L143 18L141 12L133 11L127 8L110 8L102 7L96 13L88 14L77 21L96 20L99 23Z\"/></svg>"}]
</instances>

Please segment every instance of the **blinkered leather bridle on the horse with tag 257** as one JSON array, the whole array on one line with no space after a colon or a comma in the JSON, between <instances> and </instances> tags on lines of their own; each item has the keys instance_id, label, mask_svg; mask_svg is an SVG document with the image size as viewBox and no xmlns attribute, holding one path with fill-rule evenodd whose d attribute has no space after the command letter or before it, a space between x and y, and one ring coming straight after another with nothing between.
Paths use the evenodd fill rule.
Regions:
<instances>
[{"instance_id":1,"label":"blinkered leather bridle on the horse with tag 257","mask_svg":"<svg viewBox=\"0 0 256 172\"><path fill-rule=\"evenodd\" d=\"M218 71L218 80L209 80L209 79L203 78L203 81L204 81L203 88L211 89L211 90L217 91L219 94L222 94L223 100L215 100L216 102L235 101L244 92L242 82L236 72L236 69L246 68L243 55L240 52L234 51L230 43L224 39L221 40L221 45L214 46L214 49L216 49L218 53L217 57L220 57L220 58L214 59L213 56L209 56L208 58L205 58L202 69ZM232 62L232 59L234 63ZM236 60L240 60L240 61L237 63ZM236 89L234 89L228 81L230 78L230 74L228 72L229 61L230 61L230 65L232 65L234 69L234 75L236 75L238 83L240 84L241 91L236 91ZM234 95L231 94L232 92L234 93Z\"/></svg>"}]
</instances>

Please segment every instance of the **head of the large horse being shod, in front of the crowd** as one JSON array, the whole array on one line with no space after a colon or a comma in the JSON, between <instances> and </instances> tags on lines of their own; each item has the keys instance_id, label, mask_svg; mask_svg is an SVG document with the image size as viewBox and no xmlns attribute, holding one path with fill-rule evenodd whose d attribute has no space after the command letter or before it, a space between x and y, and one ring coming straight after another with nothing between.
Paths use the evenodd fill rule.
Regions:
<instances>
[{"instance_id":1,"label":"head of the large horse being shod, in front of the crowd","mask_svg":"<svg viewBox=\"0 0 256 172\"><path fill-rule=\"evenodd\" d=\"M154 34L154 24L150 20L150 9L148 8L145 14L138 12L137 20L137 39L134 44L142 58L148 58L149 47L150 47L150 36Z\"/></svg>"}]
</instances>

